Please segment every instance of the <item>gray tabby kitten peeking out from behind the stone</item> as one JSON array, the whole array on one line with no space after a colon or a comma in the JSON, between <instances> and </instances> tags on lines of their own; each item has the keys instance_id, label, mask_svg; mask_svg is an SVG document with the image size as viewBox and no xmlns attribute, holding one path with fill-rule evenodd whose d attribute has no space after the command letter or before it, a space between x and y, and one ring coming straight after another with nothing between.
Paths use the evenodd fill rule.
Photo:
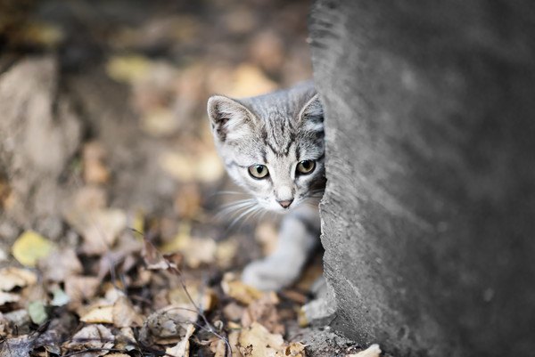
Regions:
<instances>
[{"instance_id":1,"label":"gray tabby kitten peeking out from behind the stone","mask_svg":"<svg viewBox=\"0 0 535 357\"><path fill-rule=\"evenodd\" d=\"M325 190L323 109L312 82L252 98L214 95L212 133L228 174L258 207L284 213L276 251L246 266L261 290L292 284L317 245Z\"/></svg>"}]
</instances>

